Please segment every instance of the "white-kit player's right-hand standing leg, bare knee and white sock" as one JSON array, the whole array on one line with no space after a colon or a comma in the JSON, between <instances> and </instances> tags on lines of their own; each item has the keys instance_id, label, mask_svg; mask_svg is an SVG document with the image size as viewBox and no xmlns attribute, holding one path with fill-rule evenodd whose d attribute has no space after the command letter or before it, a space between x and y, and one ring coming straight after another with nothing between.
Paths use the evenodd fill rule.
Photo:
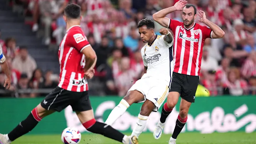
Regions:
<instances>
[{"instance_id":1,"label":"white-kit player's right-hand standing leg, bare knee and white sock","mask_svg":"<svg viewBox=\"0 0 256 144\"><path fill-rule=\"evenodd\" d=\"M133 129L132 136L135 135L137 138L139 137L139 135L142 133L143 129L146 126L146 121L147 121L150 113L155 109L155 107L156 107L155 104L153 102L151 102L150 100L146 100L143 103L142 109L138 116L138 121L136 123L137 125Z\"/></svg>"}]
</instances>

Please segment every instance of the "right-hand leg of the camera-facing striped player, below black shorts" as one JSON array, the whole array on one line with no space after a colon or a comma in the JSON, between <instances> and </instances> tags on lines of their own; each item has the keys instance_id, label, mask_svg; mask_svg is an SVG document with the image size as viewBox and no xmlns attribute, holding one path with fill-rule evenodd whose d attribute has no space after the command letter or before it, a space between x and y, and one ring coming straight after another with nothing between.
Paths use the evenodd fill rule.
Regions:
<instances>
[{"instance_id":1,"label":"right-hand leg of the camera-facing striped player, below black shorts","mask_svg":"<svg viewBox=\"0 0 256 144\"><path fill-rule=\"evenodd\" d=\"M180 134L182 128L185 126L185 124L187 122L187 114L188 114L188 110L189 110L190 106L191 106L191 102L188 102L188 101L184 100L183 98L181 98L180 113L178 115L174 133L172 134L172 137L170 138L169 144L175 144L178 134ZM172 143L170 143L170 142L172 142Z\"/></svg>"}]
</instances>

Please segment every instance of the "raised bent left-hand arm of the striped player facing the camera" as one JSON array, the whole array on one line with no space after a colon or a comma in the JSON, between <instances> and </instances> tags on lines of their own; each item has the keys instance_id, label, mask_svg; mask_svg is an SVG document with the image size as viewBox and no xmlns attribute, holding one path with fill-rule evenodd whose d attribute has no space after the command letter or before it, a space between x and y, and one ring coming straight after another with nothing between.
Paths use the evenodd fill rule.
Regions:
<instances>
[{"instance_id":1,"label":"raised bent left-hand arm of the striped player facing the camera","mask_svg":"<svg viewBox=\"0 0 256 144\"><path fill-rule=\"evenodd\" d=\"M153 19L158 22L161 26L169 27L170 19L165 17L167 14L170 14L174 11L182 11L183 7L187 4L186 0L179 0L175 3L174 6L168 7L166 9L160 10L153 14Z\"/></svg>"}]
</instances>

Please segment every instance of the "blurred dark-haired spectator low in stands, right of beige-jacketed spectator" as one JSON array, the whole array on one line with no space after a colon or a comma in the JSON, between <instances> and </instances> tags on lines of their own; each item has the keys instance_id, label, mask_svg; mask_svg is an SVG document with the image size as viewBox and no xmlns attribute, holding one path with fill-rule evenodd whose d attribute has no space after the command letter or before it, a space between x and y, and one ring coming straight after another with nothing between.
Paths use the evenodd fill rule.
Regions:
<instances>
[{"instance_id":1,"label":"blurred dark-haired spectator low in stands, right of beige-jacketed spectator","mask_svg":"<svg viewBox=\"0 0 256 144\"><path fill-rule=\"evenodd\" d=\"M28 82L28 87L31 89L42 89L44 86L44 79L41 69L36 69L33 71L32 78ZM31 93L30 97L37 97L40 96L40 94L37 93Z\"/></svg>"}]
</instances>

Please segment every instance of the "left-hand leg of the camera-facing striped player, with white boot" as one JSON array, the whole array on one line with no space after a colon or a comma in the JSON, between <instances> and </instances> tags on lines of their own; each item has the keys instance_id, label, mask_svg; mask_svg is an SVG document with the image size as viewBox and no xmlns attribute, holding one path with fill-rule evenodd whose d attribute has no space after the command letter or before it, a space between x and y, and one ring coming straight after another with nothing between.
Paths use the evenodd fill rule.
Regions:
<instances>
[{"instance_id":1,"label":"left-hand leg of the camera-facing striped player, with white boot","mask_svg":"<svg viewBox=\"0 0 256 144\"><path fill-rule=\"evenodd\" d=\"M160 120L158 124L156 124L156 129L153 133L155 139L159 139L161 137L166 118L169 116L172 109L176 106L179 96L180 96L180 93L178 92L175 92L175 91L169 92L169 95L167 97L167 102L162 107Z\"/></svg>"}]
</instances>

